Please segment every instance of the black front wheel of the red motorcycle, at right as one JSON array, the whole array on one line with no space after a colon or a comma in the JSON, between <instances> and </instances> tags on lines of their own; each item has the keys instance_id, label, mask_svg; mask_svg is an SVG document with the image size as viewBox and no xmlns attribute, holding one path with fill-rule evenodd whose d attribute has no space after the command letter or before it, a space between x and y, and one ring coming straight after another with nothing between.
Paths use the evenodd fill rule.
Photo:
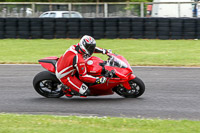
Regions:
<instances>
[{"instance_id":1,"label":"black front wheel of the red motorcycle, at right","mask_svg":"<svg viewBox=\"0 0 200 133\"><path fill-rule=\"evenodd\" d=\"M144 93L145 85L140 78L136 77L130 80L129 84L131 86L131 90L127 90L126 88L121 86L118 86L114 90L118 95L123 96L125 98L137 98Z\"/></svg>"}]
</instances>

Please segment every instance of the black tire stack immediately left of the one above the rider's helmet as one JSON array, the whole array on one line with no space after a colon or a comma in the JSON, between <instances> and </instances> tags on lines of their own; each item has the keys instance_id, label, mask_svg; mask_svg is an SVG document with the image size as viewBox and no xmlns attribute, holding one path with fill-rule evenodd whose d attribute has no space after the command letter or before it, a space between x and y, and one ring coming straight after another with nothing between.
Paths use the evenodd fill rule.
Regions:
<instances>
[{"instance_id":1,"label":"black tire stack immediately left of the one above the rider's helmet","mask_svg":"<svg viewBox=\"0 0 200 133\"><path fill-rule=\"evenodd\" d=\"M70 18L68 20L68 37L69 38L79 38L79 27L80 19L79 18Z\"/></svg>"}]
</instances>

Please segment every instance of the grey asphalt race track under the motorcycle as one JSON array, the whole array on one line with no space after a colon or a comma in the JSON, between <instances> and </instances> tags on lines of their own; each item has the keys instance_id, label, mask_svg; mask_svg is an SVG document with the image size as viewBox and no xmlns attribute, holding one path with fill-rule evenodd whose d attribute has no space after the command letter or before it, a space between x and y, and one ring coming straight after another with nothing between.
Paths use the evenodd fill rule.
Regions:
<instances>
[{"instance_id":1,"label":"grey asphalt race track under the motorcycle","mask_svg":"<svg viewBox=\"0 0 200 133\"><path fill-rule=\"evenodd\" d=\"M32 86L39 65L0 65L0 113L114 116L200 120L200 68L133 67L146 91L140 98L115 95L44 98Z\"/></svg>"}]
</instances>

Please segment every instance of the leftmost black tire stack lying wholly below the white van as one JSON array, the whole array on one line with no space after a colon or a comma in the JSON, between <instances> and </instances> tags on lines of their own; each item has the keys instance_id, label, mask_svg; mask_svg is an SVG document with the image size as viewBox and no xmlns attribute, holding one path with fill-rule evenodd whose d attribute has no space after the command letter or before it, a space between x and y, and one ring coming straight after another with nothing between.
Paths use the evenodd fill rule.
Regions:
<instances>
[{"instance_id":1,"label":"leftmost black tire stack lying wholly below the white van","mask_svg":"<svg viewBox=\"0 0 200 133\"><path fill-rule=\"evenodd\" d=\"M157 20L157 34L158 39L169 39L170 25L168 18L158 18Z\"/></svg>"}]
</instances>

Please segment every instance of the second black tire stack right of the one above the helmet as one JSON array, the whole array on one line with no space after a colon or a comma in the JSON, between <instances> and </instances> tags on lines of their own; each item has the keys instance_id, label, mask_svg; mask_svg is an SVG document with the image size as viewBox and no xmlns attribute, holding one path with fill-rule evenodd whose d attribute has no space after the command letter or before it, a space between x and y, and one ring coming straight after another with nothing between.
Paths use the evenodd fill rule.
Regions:
<instances>
[{"instance_id":1,"label":"second black tire stack right of the one above the helmet","mask_svg":"<svg viewBox=\"0 0 200 133\"><path fill-rule=\"evenodd\" d=\"M118 37L118 19L105 19L105 38L114 39Z\"/></svg>"}]
</instances>

